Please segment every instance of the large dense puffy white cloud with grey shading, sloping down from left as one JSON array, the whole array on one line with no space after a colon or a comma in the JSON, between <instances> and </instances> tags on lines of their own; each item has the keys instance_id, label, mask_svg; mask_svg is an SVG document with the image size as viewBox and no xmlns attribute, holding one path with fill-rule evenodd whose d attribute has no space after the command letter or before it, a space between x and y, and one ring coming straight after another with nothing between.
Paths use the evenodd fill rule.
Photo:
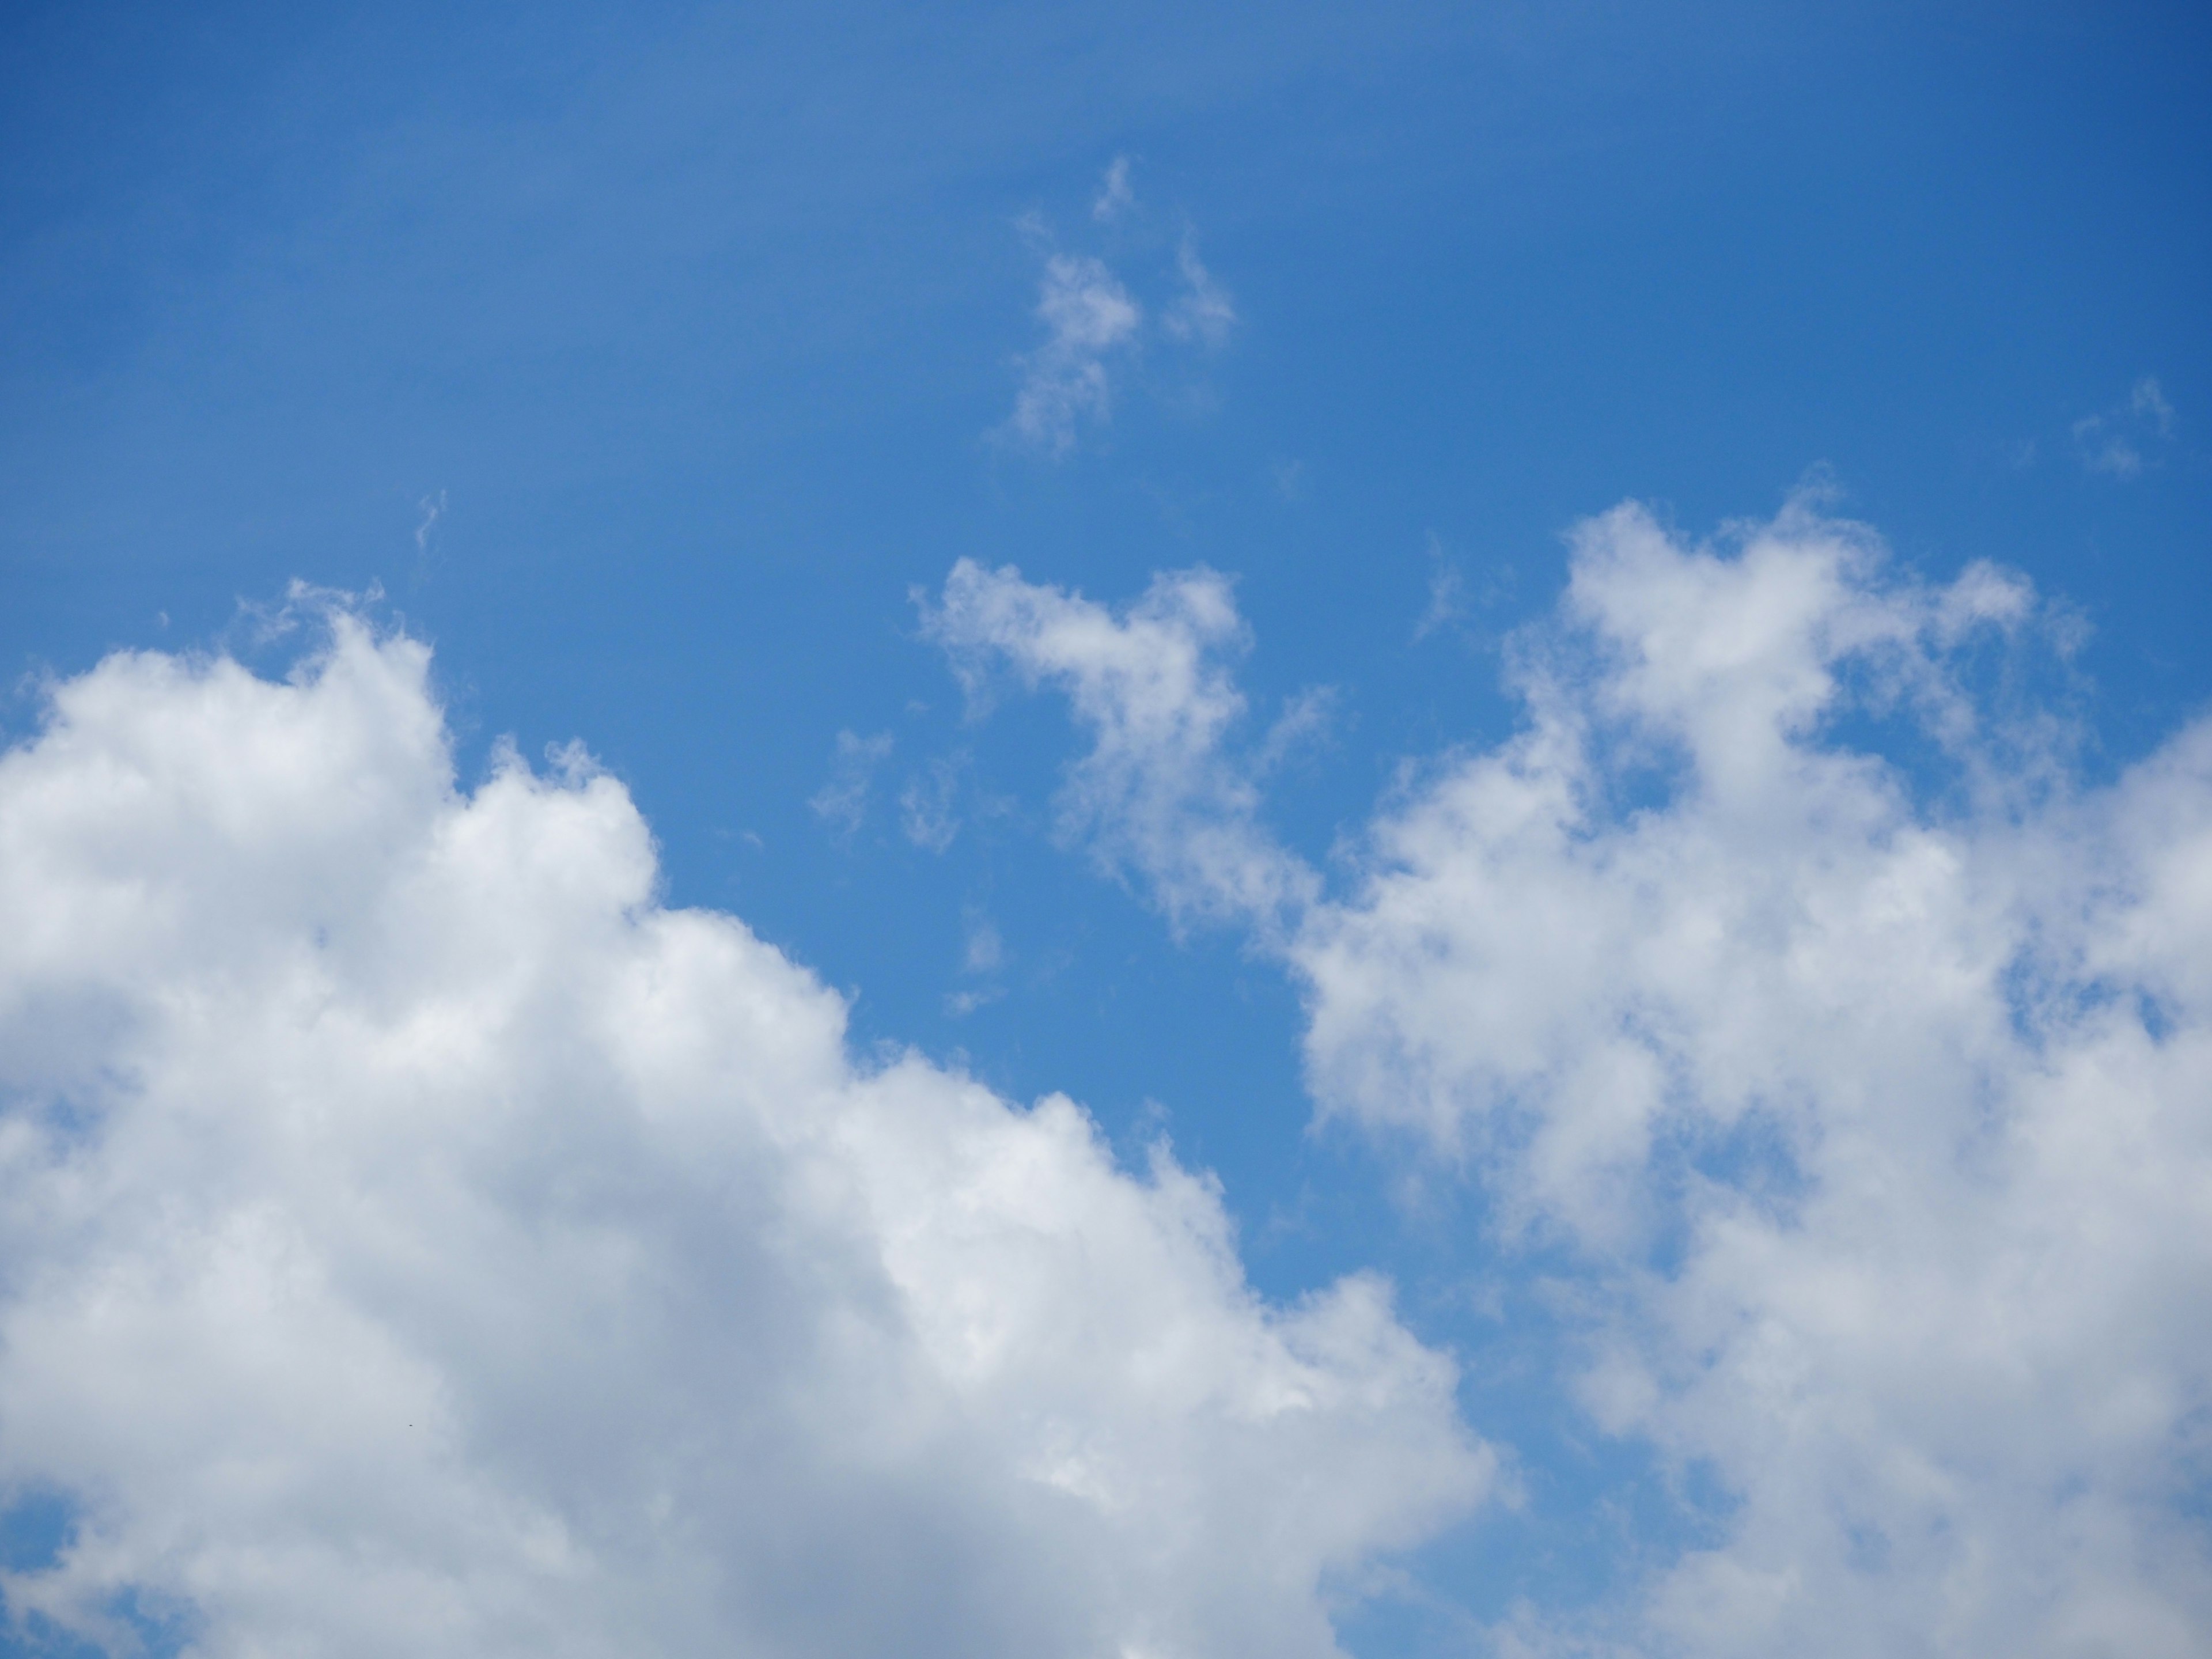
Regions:
<instances>
[{"instance_id":1,"label":"large dense puffy white cloud with grey shading, sloping down from left","mask_svg":"<svg viewBox=\"0 0 2212 1659\"><path fill-rule=\"evenodd\" d=\"M1334 1650L1491 1453L1385 1285L655 900L427 653L117 655L0 757L15 1619L206 1655Z\"/></svg>"}]
</instances>

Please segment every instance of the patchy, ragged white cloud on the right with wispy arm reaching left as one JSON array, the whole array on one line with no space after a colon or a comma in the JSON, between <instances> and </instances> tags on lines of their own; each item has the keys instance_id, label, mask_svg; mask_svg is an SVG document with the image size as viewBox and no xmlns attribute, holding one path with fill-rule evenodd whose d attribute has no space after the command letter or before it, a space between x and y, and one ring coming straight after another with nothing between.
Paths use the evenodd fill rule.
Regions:
<instances>
[{"instance_id":1,"label":"patchy, ragged white cloud on the right with wispy arm reaching left","mask_svg":"<svg viewBox=\"0 0 2212 1659\"><path fill-rule=\"evenodd\" d=\"M1327 894L1221 741L1225 584L1152 595L1104 641L1002 575L964 637L1073 692L1091 834L1170 911L1223 872L1265 918L1321 1110L1579 1263L1593 1420L1725 1493L1504 1648L2203 1652L2212 723L2093 787L1982 688L2046 624L2022 580L1916 582L1809 500L1712 546L1624 507L1515 644L1524 730L1411 774ZM1223 821L1239 858L1175 845Z\"/></svg>"}]
</instances>

